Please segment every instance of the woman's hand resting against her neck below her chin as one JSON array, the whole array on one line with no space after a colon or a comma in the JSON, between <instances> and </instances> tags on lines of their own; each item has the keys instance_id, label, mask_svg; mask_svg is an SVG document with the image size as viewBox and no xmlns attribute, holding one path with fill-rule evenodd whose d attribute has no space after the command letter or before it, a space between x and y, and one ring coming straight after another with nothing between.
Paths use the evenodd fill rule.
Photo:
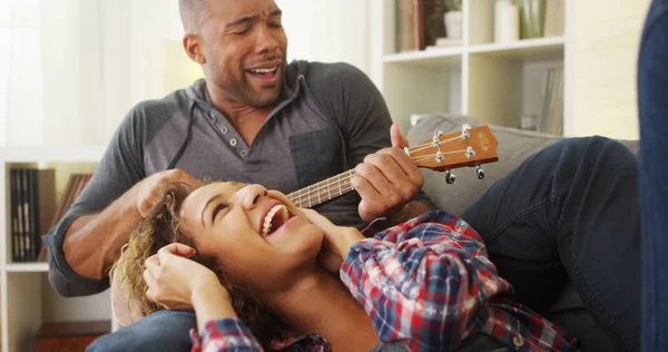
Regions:
<instances>
[{"instance_id":1,"label":"woman's hand resting against her neck below her chin","mask_svg":"<svg viewBox=\"0 0 668 352\"><path fill-rule=\"evenodd\" d=\"M336 273L345 260L351 246L364 239L364 235L354 227L343 227L332 224L326 217L313 209L302 209L306 218L323 231L325 241L318 255L321 265L328 272Z\"/></svg>"}]
</instances>

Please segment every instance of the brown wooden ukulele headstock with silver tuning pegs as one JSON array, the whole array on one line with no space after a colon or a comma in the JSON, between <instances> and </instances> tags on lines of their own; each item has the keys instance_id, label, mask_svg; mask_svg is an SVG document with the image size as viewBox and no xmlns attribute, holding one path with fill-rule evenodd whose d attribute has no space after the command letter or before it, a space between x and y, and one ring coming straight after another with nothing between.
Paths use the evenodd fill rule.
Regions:
<instances>
[{"instance_id":1,"label":"brown wooden ukulele headstock with silver tuning pegs","mask_svg":"<svg viewBox=\"0 0 668 352\"><path fill-rule=\"evenodd\" d=\"M452 183L454 177L450 169L465 166L475 166L478 178L483 178L480 165L499 160L498 143L489 126L463 125L461 133L434 133L432 139L411 147L409 153L415 165L446 172L446 180Z\"/></svg>"}]
</instances>

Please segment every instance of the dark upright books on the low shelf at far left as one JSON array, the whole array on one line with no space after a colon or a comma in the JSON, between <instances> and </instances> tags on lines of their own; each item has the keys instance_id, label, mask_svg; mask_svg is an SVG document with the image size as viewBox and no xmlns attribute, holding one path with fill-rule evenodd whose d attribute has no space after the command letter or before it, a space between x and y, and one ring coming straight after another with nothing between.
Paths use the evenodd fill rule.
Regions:
<instances>
[{"instance_id":1,"label":"dark upright books on the low shelf at far left","mask_svg":"<svg viewBox=\"0 0 668 352\"><path fill-rule=\"evenodd\" d=\"M35 262L41 234L48 231L56 197L53 169L12 168L9 175L11 197L11 260Z\"/></svg>"}]
</instances>

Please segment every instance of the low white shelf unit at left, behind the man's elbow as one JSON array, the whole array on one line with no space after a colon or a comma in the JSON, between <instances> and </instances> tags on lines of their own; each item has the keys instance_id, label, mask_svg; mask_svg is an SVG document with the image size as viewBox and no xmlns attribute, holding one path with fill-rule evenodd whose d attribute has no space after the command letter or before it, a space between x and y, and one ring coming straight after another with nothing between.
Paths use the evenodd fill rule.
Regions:
<instances>
[{"instance_id":1,"label":"low white shelf unit at left, behind the man's elbow","mask_svg":"<svg viewBox=\"0 0 668 352\"><path fill-rule=\"evenodd\" d=\"M109 290L100 294L66 299L48 282L47 263L12 263L9 174L12 168L56 170L56 198L60 199L70 174L95 170L105 148L6 147L0 148L0 312L2 352L31 351L43 322L110 320Z\"/></svg>"}]
</instances>

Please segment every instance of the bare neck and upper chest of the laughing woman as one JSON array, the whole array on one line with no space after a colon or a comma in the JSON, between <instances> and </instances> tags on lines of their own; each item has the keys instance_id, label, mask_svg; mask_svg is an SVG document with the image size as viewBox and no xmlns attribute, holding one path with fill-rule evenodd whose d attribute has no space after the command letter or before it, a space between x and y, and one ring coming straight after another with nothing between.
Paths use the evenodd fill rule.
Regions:
<instances>
[{"instance_id":1,"label":"bare neck and upper chest of the laughing woman","mask_svg":"<svg viewBox=\"0 0 668 352\"><path fill-rule=\"evenodd\" d=\"M334 351L370 351L379 343L373 322L343 283L316 268L288 292L261 299L295 332L315 333Z\"/></svg>"}]
</instances>

